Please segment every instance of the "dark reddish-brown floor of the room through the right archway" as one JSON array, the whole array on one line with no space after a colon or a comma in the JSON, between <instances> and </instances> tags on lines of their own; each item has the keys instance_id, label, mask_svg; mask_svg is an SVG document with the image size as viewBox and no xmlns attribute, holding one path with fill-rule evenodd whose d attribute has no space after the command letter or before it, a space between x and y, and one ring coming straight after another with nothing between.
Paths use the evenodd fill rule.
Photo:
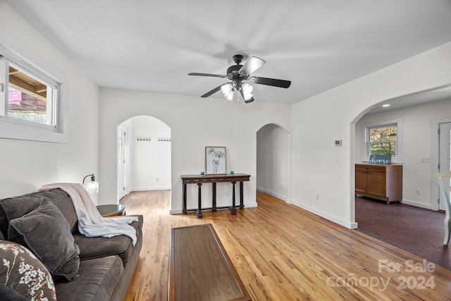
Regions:
<instances>
[{"instance_id":1,"label":"dark reddish-brown floor of the room through the right archway","mask_svg":"<svg viewBox=\"0 0 451 301\"><path fill-rule=\"evenodd\" d=\"M355 219L357 231L451 269L451 244L443 245L443 211L356 197Z\"/></svg>"}]
</instances>

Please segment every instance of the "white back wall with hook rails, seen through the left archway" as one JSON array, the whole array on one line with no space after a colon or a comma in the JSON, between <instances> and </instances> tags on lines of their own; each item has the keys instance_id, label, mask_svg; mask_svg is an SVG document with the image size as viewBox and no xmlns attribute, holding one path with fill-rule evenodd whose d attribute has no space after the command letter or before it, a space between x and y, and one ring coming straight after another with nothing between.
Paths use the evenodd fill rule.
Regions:
<instances>
[{"instance_id":1,"label":"white back wall with hook rails, seen through the left archway","mask_svg":"<svg viewBox=\"0 0 451 301\"><path fill-rule=\"evenodd\" d=\"M130 190L171 189L171 128L150 116L131 118ZM150 137L150 141L137 138Z\"/></svg>"}]
</instances>

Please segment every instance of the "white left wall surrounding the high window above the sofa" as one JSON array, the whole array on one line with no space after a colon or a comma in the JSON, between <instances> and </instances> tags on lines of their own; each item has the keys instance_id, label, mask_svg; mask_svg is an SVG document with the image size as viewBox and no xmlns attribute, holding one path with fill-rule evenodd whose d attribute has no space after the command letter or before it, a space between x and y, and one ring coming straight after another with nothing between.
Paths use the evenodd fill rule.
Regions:
<instances>
[{"instance_id":1,"label":"white left wall surrounding the high window above the sofa","mask_svg":"<svg viewBox=\"0 0 451 301\"><path fill-rule=\"evenodd\" d=\"M4 1L0 1L0 38L6 46L27 49L33 63L39 63L38 58L68 78L65 101L70 110L68 143L0 138L0 198L32 192L47 183L81 183L90 173L99 176L97 85Z\"/></svg>"}]
</instances>

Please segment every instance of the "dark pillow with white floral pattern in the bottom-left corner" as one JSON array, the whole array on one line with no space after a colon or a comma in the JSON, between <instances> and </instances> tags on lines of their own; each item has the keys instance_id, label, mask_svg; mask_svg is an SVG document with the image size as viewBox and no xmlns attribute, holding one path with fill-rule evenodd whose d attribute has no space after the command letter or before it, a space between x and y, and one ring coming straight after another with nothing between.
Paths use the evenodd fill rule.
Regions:
<instances>
[{"instance_id":1,"label":"dark pillow with white floral pattern in the bottom-left corner","mask_svg":"<svg viewBox=\"0 0 451 301\"><path fill-rule=\"evenodd\" d=\"M30 250L0 241L0 300L56 300L47 268Z\"/></svg>"}]
</instances>

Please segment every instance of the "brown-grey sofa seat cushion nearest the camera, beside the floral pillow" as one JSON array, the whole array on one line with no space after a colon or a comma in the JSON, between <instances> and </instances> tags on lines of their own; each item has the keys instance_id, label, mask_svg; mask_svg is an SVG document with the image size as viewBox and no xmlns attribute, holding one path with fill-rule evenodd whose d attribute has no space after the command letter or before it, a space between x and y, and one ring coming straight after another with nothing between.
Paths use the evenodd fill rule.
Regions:
<instances>
[{"instance_id":1,"label":"brown-grey sofa seat cushion nearest the camera, beside the floral pillow","mask_svg":"<svg viewBox=\"0 0 451 301\"><path fill-rule=\"evenodd\" d=\"M63 301L111 300L123 274L121 259L115 256L80 261L80 278L56 283L56 295Z\"/></svg>"}]
</instances>

